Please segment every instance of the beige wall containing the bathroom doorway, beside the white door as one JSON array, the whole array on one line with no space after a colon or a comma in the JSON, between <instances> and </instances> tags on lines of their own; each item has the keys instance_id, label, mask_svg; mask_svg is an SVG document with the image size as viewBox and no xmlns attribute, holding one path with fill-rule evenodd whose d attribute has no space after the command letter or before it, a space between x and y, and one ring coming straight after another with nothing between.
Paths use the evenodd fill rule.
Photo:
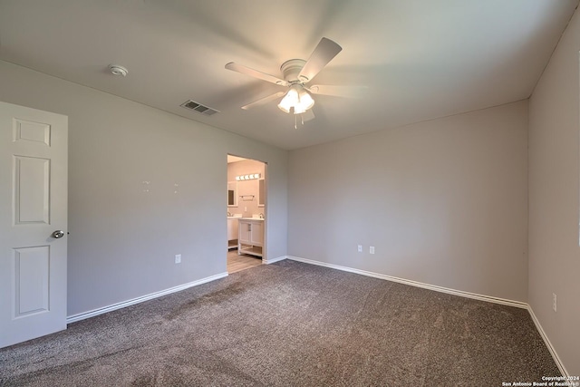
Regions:
<instances>
[{"instance_id":1,"label":"beige wall containing the bathroom doorway, beside the white door","mask_svg":"<svg viewBox=\"0 0 580 387\"><path fill-rule=\"evenodd\" d=\"M285 150L11 63L0 85L69 117L69 315L226 272L227 153L268 163L266 255L286 255Z\"/></svg>"}]
</instances>

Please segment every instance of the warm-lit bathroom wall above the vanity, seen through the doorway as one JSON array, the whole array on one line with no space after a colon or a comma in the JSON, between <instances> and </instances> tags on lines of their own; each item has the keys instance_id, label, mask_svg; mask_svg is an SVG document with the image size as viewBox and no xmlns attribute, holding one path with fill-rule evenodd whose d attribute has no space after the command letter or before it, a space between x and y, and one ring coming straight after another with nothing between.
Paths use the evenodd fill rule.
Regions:
<instances>
[{"instance_id":1,"label":"warm-lit bathroom wall above the vanity, seen through the doorway","mask_svg":"<svg viewBox=\"0 0 580 387\"><path fill-rule=\"evenodd\" d=\"M242 160L227 164L227 181L236 181L236 176L259 173L262 178L266 175L266 165L261 161ZM258 179L237 181L237 207L228 207L232 214L242 214L243 217L252 217L254 214L265 214L264 207L258 207ZM240 198L243 195L254 195L254 198Z\"/></svg>"}]
</instances>

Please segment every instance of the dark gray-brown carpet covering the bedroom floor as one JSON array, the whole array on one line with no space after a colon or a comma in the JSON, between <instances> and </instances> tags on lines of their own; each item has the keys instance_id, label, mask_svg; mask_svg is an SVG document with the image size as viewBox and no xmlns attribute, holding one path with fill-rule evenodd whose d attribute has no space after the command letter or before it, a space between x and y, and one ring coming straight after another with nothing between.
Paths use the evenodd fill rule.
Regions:
<instances>
[{"instance_id":1,"label":"dark gray-brown carpet covering the bedroom floor","mask_svg":"<svg viewBox=\"0 0 580 387\"><path fill-rule=\"evenodd\" d=\"M524 309L294 261L0 350L0 385L501 386L559 374Z\"/></svg>"}]
</instances>

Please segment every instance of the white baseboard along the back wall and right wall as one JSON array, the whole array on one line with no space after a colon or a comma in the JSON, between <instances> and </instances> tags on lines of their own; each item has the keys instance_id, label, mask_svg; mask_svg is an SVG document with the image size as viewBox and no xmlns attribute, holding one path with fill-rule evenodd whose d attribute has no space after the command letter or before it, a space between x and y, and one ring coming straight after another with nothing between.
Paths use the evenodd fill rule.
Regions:
<instances>
[{"instance_id":1,"label":"white baseboard along the back wall and right wall","mask_svg":"<svg viewBox=\"0 0 580 387\"><path fill-rule=\"evenodd\" d=\"M421 282L411 281L409 279L399 278L396 276L386 276L383 274L372 273L369 271L359 270L359 269L355 269L352 267L333 265L333 264L328 264L326 262L314 261L312 259L300 258L298 256L286 256L286 258L293 260L293 261L304 262L305 264L330 267L330 268L337 269L337 270L342 270L342 271L346 271L346 272L350 272L350 273L360 274L362 276L372 276L374 278L385 279L387 281L398 282L398 283L405 284L405 285L422 287L424 289L434 290L436 292L448 293L449 295L459 295L461 297L474 298L476 300L488 301L490 303L516 306L518 308L527 309L527 311L529 312L529 314L532 317L532 321L536 325L537 332L540 334L540 336L544 340L544 343L546 343L547 350L552 355L552 358L554 359L554 363L556 363L558 370L560 370L560 372L562 373L563 376L566 376L566 377L570 376L565 369L564 363L562 363L562 361L560 360L560 357L556 353L556 349L554 348L554 346L552 346L552 343L550 343L550 340L547 338L546 332L544 332L542 325L537 320L536 314L534 314L532 307L530 305L528 305L527 303L522 303L520 301L507 300L505 298L492 297L490 295L478 295L475 293L464 292L462 290L449 289L448 287L423 284Z\"/></svg>"}]
</instances>

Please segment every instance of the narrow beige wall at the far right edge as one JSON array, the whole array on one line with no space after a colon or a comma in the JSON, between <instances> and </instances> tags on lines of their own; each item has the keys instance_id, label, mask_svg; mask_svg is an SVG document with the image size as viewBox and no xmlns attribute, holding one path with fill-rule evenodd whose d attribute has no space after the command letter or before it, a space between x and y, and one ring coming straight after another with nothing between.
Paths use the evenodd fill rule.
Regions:
<instances>
[{"instance_id":1,"label":"narrow beige wall at the far right edge","mask_svg":"<svg viewBox=\"0 0 580 387\"><path fill-rule=\"evenodd\" d=\"M529 102L529 304L571 375L580 374L579 50L576 12Z\"/></svg>"}]
</instances>

